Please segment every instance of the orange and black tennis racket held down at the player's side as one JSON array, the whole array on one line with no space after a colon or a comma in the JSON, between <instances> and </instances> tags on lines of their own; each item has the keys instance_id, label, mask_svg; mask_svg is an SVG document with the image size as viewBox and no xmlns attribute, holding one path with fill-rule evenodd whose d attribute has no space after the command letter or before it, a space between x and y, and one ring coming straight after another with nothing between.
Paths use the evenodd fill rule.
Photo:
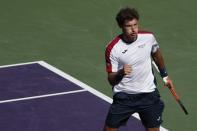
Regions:
<instances>
[{"instance_id":1,"label":"orange and black tennis racket held down at the player's side","mask_svg":"<svg viewBox=\"0 0 197 131\"><path fill-rule=\"evenodd\" d=\"M154 65L155 69L159 72L159 69L154 61L152 62L152 64ZM184 113L186 115L188 115L188 112L187 112L185 106L183 105L183 103L181 102L180 97L177 95L174 87L168 86L168 89L170 90L170 92L172 93L172 95L174 96L175 100L178 102L178 104L180 105L180 107L184 111Z\"/></svg>"}]
</instances>

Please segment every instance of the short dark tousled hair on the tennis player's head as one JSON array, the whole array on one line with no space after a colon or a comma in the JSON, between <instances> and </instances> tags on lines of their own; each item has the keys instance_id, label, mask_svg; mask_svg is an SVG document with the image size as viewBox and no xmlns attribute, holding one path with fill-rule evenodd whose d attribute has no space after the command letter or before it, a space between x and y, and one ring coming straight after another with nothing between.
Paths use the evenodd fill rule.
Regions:
<instances>
[{"instance_id":1,"label":"short dark tousled hair on the tennis player's head","mask_svg":"<svg viewBox=\"0 0 197 131\"><path fill-rule=\"evenodd\" d=\"M129 8L129 7L122 8L116 15L116 21L119 27L123 26L125 20L133 20L133 19L139 20L138 11L135 8Z\"/></svg>"}]
</instances>

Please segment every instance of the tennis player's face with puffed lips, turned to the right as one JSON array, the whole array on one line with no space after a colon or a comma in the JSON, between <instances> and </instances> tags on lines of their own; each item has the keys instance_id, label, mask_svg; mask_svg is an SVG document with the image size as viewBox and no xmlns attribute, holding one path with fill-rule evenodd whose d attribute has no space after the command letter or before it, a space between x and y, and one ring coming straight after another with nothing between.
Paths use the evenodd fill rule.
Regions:
<instances>
[{"instance_id":1,"label":"tennis player's face with puffed lips, turned to the right","mask_svg":"<svg viewBox=\"0 0 197 131\"><path fill-rule=\"evenodd\" d=\"M139 28L137 19L125 20L122 26L123 34L126 36L128 41L133 41L137 39L138 30Z\"/></svg>"}]
</instances>

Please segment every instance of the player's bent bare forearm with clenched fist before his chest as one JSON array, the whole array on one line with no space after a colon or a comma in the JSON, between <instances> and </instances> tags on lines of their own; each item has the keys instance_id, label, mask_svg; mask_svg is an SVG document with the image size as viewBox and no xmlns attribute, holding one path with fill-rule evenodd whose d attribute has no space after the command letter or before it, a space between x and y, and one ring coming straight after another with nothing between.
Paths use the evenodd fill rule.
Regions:
<instances>
[{"instance_id":1,"label":"player's bent bare forearm with clenched fist before his chest","mask_svg":"<svg viewBox=\"0 0 197 131\"><path fill-rule=\"evenodd\" d=\"M131 73L131 65L124 65L122 69L117 72L108 73L108 81L110 85L117 85L125 75L129 75Z\"/></svg>"}]
</instances>

